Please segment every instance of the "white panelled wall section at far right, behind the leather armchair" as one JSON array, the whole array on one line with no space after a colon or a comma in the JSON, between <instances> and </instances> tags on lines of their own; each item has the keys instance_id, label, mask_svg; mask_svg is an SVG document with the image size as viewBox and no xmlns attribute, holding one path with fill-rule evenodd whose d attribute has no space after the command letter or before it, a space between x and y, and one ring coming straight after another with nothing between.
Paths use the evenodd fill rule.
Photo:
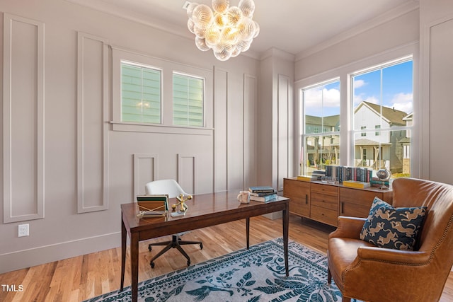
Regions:
<instances>
[{"instance_id":1,"label":"white panelled wall section at far right, behind the leather armchair","mask_svg":"<svg viewBox=\"0 0 453 302\"><path fill-rule=\"evenodd\" d=\"M420 0L420 156L423 178L453 184L453 1Z\"/></svg>"}]
</instances>

